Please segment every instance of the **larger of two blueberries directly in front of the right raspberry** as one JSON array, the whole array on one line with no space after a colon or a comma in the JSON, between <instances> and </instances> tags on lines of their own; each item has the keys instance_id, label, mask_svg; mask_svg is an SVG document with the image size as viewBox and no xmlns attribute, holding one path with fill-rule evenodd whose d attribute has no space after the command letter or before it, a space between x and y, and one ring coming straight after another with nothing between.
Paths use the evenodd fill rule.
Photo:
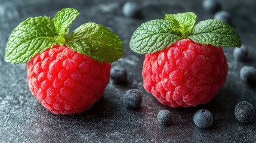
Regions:
<instances>
[{"instance_id":1,"label":"larger of two blueberries directly in front of the right raspberry","mask_svg":"<svg viewBox=\"0 0 256 143\"><path fill-rule=\"evenodd\" d=\"M198 110L193 117L193 121L199 128L208 128L212 125L213 116L208 110Z\"/></svg>"}]
</instances>

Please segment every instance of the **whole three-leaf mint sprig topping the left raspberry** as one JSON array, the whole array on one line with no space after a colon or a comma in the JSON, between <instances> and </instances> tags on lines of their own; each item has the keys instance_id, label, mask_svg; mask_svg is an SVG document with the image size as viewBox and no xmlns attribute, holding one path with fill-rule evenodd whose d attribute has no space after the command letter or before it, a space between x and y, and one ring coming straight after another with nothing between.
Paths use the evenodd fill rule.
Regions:
<instances>
[{"instance_id":1,"label":"whole three-leaf mint sprig topping the left raspberry","mask_svg":"<svg viewBox=\"0 0 256 143\"><path fill-rule=\"evenodd\" d=\"M53 45L67 45L101 63L112 63L124 54L118 35L100 24L85 23L67 38L69 26L79 15L73 8L51 17L27 18L11 32L5 49L5 61L26 63Z\"/></svg>"}]
</instances>

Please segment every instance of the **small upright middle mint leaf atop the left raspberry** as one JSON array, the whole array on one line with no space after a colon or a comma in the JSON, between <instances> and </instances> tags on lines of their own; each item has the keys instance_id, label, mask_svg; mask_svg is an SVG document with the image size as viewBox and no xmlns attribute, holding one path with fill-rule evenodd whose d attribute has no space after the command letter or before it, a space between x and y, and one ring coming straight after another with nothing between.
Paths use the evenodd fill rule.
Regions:
<instances>
[{"instance_id":1,"label":"small upright middle mint leaf atop the left raspberry","mask_svg":"<svg viewBox=\"0 0 256 143\"><path fill-rule=\"evenodd\" d=\"M69 32L70 24L76 19L80 13L73 8L64 8L54 17L54 26L58 35L60 35L60 42L63 41L61 36L66 36Z\"/></svg>"}]
</instances>

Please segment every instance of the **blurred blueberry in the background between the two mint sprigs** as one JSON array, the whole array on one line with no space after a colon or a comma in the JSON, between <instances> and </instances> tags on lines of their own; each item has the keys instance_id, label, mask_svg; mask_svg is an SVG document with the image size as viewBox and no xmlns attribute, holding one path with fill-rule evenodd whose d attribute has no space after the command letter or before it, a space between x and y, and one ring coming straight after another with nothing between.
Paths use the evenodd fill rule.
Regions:
<instances>
[{"instance_id":1,"label":"blurred blueberry in the background between the two mint sprigs","mask_svg":"<svg viewBox=\"0 0 256 143\"><path fill-rule=\"evenodd\" d=\"M126 2L123 6L123 14L126 17L138 17L140 14L140 7L135 2Z\"/></svg>"}]
</instances>

